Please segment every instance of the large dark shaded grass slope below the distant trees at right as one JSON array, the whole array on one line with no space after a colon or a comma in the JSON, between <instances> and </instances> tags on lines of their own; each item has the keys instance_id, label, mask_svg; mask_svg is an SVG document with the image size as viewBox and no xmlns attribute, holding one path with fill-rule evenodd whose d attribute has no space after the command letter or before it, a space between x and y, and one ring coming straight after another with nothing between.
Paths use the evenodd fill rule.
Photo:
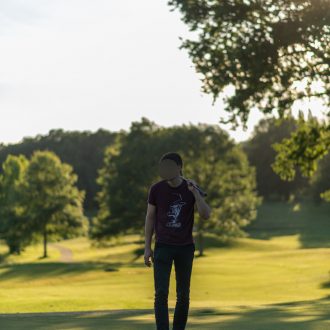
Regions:
<instances>
[{"instance_id":1,"label":"large dark shaded grass slope below the distant trees at right","mask_svg":"<svg viewBox=\"0 0 330 330\"><path fill-rule=\"evenodd\" d=\"M302 201L299 209L283 202L265 202L255 221L245 227L249 237L268 240L299 235L301 248L330 247L330 203Z\"/></svg>"}]
</instances>

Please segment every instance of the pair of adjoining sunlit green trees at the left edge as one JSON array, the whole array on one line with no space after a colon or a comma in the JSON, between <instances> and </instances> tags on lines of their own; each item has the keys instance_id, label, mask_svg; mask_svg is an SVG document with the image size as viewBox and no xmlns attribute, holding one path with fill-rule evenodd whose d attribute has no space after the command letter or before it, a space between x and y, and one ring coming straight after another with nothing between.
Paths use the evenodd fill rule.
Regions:
<instances>
[{"instance_id":1,"label":"pair of adjoining sunlit green trees at the left edge","mask_svg":"<svg viewBox=\"0 0 330 330\"><path fill-rule=\"evenodd\" d=\"M48 237L69 238L88 232L83 214L84 191L77 175L50 151L7 157L0 175L0 235L11 253L42 237L47 257Z\"/></svg>"}]
</instances>

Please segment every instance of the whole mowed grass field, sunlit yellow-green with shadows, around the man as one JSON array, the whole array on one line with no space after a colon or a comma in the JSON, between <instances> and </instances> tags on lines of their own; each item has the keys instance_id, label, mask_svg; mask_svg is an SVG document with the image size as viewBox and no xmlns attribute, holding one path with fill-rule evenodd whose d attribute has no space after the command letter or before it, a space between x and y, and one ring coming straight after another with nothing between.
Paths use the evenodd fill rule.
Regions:
<instances>
[{"instance_id":1,"label":"whole mowed grass field, sunlit yellow-green with shadows, around the man","mask_svg":"<svg viewBox=\"0 0 330 330\"><path fill-rule=\"evenodd\" d=\"M247 230L227 246L208 235L205 256L196 250L187 329L330 329L330 205L265 203ZM132 235L102 248L57 242L47 260L41 245L5 259L0 329L155 329L153 269L141 253ZM174 306L173 265L170 323Z\"/></svg>"}]
</instances>

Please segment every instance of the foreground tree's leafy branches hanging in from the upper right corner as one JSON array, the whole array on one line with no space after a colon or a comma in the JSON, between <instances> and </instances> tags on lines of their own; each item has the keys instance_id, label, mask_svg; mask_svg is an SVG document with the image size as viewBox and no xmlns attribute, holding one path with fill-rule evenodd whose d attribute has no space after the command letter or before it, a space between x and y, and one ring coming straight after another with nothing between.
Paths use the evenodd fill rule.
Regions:
<instances>
[{"instance_id":1,"label":"foreground tree's leafy branches hanging in from the upper right corner","mask_svg":"<svg viewBox=\"0 0 330 330\"><path fill-rule=\"evenodd\" d=\"M220 122L232 123L233 127L241 122L246 128L254 107L285 119L294 105L301 107L311 100L319 100L329 109L329 0L168 3L171 10L181 12L182 20L196 33L195 39L183 40L180 48L188 51L201 74L203 91L215 102L225 88L232 88L232 95L224 98L229 119L221 118ZM326 116L330 117L330 111ZM276 148L279 156L274 170L282 178L292 177L297 167L312 175L324 150L330 149L329 121L299 124L300 129ZM289 164L281 161L286 156Z\"/></svg>"}]
</instances>

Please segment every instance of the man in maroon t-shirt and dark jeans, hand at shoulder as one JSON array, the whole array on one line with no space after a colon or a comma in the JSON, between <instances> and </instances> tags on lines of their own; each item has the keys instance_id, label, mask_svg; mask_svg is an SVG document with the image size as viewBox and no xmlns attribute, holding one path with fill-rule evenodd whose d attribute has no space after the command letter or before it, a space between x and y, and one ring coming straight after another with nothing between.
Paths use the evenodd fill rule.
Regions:
<instances>
[{"instance_id":1,"label":"man in maroon t-shirt and dark jeans, hand at shoulder","mask_svg":"<svg viewBox=\"0 0 330 330\"><path fill-rule=\"evenodd\" d=\"M182 178L183 162L178 153L168 152L159 161L163 180L151 185L145 223L144 262L154 264L154 310L157 330L169 330L168 292L174 261L176 276L176 305L173 330L184 330L187 323L190 278L195 252L192 236L194 206L203 219L210 217L211 209L193 186L195 181ZM154 253L151 249L155 230Z\"/></svg>"}]
</instances>

